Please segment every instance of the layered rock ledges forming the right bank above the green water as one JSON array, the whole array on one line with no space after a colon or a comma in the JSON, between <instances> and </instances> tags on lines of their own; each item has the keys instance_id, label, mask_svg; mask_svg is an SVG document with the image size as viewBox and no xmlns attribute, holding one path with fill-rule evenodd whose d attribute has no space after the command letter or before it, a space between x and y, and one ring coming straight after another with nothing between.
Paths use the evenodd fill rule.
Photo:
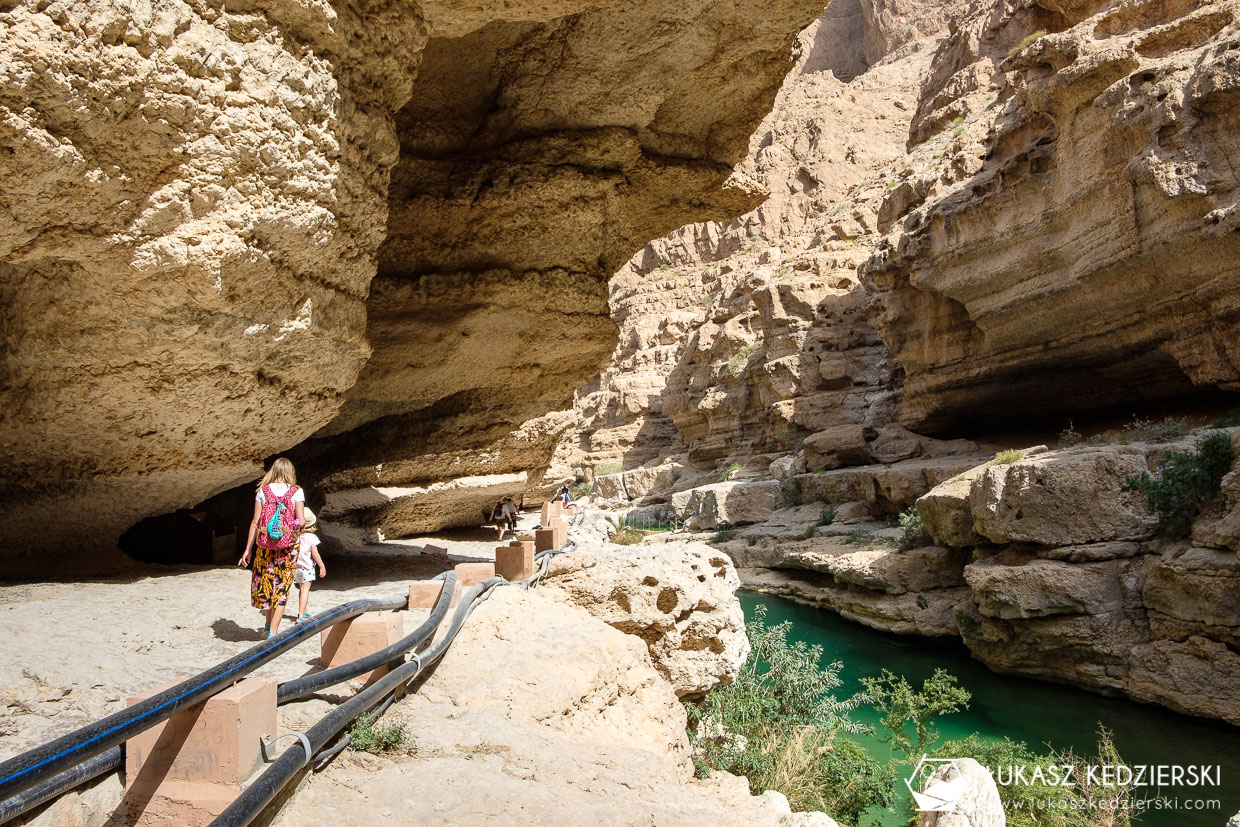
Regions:
<instances>
[{"instance_id":1,"label":"layered rock ledges forming the right bank above the green water","mask_svg":"<svg viewBox=\"0 0 1240 827\"><path fill-rule=\"evenodd\" d=\"M1192 443L977 466L916 500L936 543L924 548L901 551L882 523L799 536L812 515L775 515L720 548L750 588L889 631L959 635L993 670L1240 723L1240 563L1220 528L1234 524L1240 467L1190 541L1159 539L1128 480L1169 450Z\"/></svg>"}]
</instances>

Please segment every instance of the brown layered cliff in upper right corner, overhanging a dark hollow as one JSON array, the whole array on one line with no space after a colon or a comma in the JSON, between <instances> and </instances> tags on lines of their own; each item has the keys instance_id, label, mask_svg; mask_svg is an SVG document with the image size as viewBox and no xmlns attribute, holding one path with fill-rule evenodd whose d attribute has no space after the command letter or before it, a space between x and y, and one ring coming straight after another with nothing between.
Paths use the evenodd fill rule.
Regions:
<instances>
[{"instance_id":1,"label":"brown layered cliff in upper right corner, overhanging a dark hollow","mask_svg":"<svg viewBox=\"0 0 1240 827\"><path fill-rule=\"evenodd\" d=\"M961 15L909 144L967 175L905 197L861 268L905 369L903 424L1236 388L1236 14Z\"/></svg>"}]
</instances>

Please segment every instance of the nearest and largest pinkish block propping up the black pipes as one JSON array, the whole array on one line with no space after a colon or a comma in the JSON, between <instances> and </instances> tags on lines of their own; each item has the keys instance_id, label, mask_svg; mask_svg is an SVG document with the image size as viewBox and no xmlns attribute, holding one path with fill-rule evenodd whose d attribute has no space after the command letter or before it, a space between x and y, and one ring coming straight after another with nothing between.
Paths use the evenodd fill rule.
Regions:
<instances>
[{"instance_id":1,"label":"nearest and largest pinkish block propping up the black pipes","mask_svg":"<svg viewBox=\"0 0 1240 827\"><path fill-rule=\"evenodd\" d=\"M223 812L260 764L262 739L277 734L275 686L246 678L125 741L122 806L130 821L192 827Z\"/></svg>"}]
</instances>

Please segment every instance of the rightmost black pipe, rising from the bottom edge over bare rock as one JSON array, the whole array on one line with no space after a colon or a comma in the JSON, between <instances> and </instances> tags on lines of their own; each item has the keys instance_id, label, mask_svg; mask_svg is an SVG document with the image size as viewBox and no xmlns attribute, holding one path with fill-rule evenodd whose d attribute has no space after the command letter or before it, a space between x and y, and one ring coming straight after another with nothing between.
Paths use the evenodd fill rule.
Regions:
<instances>
[{"instance_id":1,"label":"rightmost black pipe, rising from the bottom edge over bare rock","mask_svg":"<svg viewBox=\"0 0 1240 827\"><path fill-rule=\"evenodd\" d=\"M280 790L283 790L284 786L291 781L303 767L310 764L314 754L321 750L327 741L340 733L340 730L352 723L355 718L365 714L386 694L412 681L419 672L443 657L444 652L448 651L448 646L453 642L456 634L465 624L465 619L469 617L470 613L474 610L475 600L501 583L506 583L506 580L501 577L492 577L470 586L470 589L461 595L460 605L456 606L456 614L453 615L448 631L439 640L432 643L430 648L420 656L415 656L414 660L396 667L370 687L362 689L352 698L327 713L317 724L311 727L305 733L306 740L310 743L309 755L305 751L305 746L303 746L300 741L289 746L269 767L267 767L267 770L263 771L262 775L254 779L250 785L246 787L244 792L242 792L236 801L228 805L228 807L211 822L211 827L244 827L253 821L254 817L258 816L258 813L260 813L277 795L279 795Z\"/></svg>"}]
</instances>

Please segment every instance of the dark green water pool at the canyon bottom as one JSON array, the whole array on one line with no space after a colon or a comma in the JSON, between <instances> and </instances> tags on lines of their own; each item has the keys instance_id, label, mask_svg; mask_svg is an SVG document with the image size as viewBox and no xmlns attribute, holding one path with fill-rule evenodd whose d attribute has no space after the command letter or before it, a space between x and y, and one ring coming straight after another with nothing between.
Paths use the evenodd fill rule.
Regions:
<instances>
[{"instance_id":1,"label":"dark green water pool at the canyon bottom","mask_svg":"<svg viewBox=\"0 0 1240 827\"><path fill-rule=\"evenodd\" d=\"M903 674L914 686L920 686L935 668L956 676L972 693L972 702L967 710L939 722L940 741L976 732L994 740L1004 735L1023 740L1038 751L1045 751L1042 748L1049 745L1092 755L1101 723L1115 733L1116 748L1130 765L1220 766L1219 786L1163 787L1161 792L1180 802L1180 808L1146 812L1137 820L1141 827L1224 827L1240 810L1240 729L1235 727L1073 687L996 674L972 660L959 641L889 635L791 600L748 591L739 596L746 616L753 614L754 606L765 605L768 624L791 621L792 640L822 646L823 665L843 662L841 697L859 691L861 678L877 676L883 668ZM854 717L863 723L878 723L872 709L858 710ZM885 744L877 739L863 741L875 758L887 759ZM1145 795L1154 797L1157 792L1149 790ZM1218 800L1219 806L1184 808L1185 802L1197 800ZM903 825L906 817L889 815L880 822Z\"/></svg>"}]
</instances>

